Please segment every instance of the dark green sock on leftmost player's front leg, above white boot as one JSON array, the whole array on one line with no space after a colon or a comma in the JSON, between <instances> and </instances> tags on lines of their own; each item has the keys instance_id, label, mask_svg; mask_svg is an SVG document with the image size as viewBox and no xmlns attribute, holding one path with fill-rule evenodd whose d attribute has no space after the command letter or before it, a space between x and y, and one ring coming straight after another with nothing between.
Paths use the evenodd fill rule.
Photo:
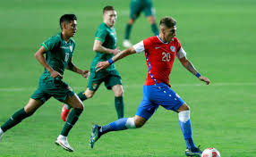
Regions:
<instances>
[{"instance_id":1,"label":"dark green sock on leftmost player's front leg, above white boot","mask_svg":"<svg viewBox=\"0 0 256 157\"><path fill-rule=\"evenodd\" d=\"M76 121L79 119L79 116L81 114L83 109L73 109L72 112L69 113L68 118L66 120L66 123L64 124L64 128L61 132L61 135L67 136L70 132L71 128L73 128L73 125L76 123Z\"/></svg>"}]
</instances>

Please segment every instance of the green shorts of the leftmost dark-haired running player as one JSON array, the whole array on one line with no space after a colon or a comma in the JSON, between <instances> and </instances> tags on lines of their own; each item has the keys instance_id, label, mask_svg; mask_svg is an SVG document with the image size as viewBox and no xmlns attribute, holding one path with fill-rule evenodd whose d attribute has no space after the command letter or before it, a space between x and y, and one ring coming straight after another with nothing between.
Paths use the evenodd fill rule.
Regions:
<instances>
[{"instance_id":1,"label":"green shorts of the leftmost dark-haired running player","mask_svg":"<svg viewBox=\"0 0 256 157\"><path fill-rule=\"evenodd\" d=\"M51 96L54 96L58 101L64 102L67 96L73 95L73 89L64 81L47 79L39 81L38 89L31 95L31 98L45 103Z\"/></svg>"}]
</instances>

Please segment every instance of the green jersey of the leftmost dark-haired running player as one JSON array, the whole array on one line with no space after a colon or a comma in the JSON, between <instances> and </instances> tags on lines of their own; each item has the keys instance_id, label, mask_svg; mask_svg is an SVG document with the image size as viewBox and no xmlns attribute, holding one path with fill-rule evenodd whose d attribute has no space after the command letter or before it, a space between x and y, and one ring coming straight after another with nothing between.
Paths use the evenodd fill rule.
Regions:
<instances>
[{"instance_id":1,"label":"green jersey of the leftmost dark-haired running player","mask_svg":"<svg viewBox=\"0 0 256 157\"><path fill-rule=\"evenodd\" d=\"M62 38L61 33L58 33L54 37L47 39L47 41L43 42L41 45L47 50L47 63L52 69L63 75L64 69L73 56L75 46L73 38L71 37L68 42L66 42ZM46 78L53 79L47 69L45 69L40 79Z\"/></svg>"}]
</instances>

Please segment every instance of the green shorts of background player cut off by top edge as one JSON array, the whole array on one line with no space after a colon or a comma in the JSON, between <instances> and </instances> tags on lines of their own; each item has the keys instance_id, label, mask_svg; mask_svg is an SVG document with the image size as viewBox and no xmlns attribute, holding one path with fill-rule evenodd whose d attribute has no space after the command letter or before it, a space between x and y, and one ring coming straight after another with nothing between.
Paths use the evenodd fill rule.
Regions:
<instances>
[{"instance_id":1,"label":"green shorts of background player cut off by top edge","mask_svg":"<svg viewBox=\"0 0 256 157\"><path fill-rule=\"evenodd\" d=\"M130 4L130 18L132 20L136 20L141 12L145 13L145 16L155 16L155 10L153 8L152 3L136 3L136 2L131 2Z\"/></svg>"}]
</instances>

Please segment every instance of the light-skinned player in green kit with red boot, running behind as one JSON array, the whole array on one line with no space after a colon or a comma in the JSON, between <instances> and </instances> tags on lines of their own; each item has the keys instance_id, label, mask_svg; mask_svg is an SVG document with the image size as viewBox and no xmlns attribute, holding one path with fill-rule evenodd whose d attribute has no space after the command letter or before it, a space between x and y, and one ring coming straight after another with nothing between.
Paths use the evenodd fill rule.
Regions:
<instances>
[{"instance_id":1,"label":"light-skinned player in green kit with red boot, running behind","mask_svg":"<svg viewBox=\"0 0 256 157\"><path fill-rule=\"evenodd\" d=\"M122 79L118 71L115 70L115 65L111 64L107 70L100 72L96 72L95 70L98 62L107 61L120 52L116 48L116 17L115 8L113 6L104 7L103 22L99 25L95 35L93 51L96 52L96 56L91 62L88 87L85 91L81 91L78 96L81 101L91 98L97 91L100 84L104 82L107 89L112 89L115 94L115 110L117 112L118 119L120 119L124 117L124 89L122 86ZM66 120L70 109L70 106L66 104L64 105L61 113L62 120Z\"/></svg>"}]
</instances>

